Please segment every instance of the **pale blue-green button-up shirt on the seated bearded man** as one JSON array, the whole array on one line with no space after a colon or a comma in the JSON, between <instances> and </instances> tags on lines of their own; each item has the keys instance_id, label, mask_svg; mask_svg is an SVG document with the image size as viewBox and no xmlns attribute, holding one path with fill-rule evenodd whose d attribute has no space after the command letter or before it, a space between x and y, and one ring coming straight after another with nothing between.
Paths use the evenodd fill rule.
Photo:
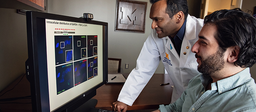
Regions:
<instances>
[{"instance_id":1,"label":"pale blue-green button-up shirt on the seated bearded man","mask_svg":"<svg viewBox=\"0 0 256 112\"><path fill-rule=\"evenodd\" d=\"M199 74L189 81L188 88L174 103L160 105L161 112L256 112L256 84L250 69L212 83L208 75Z\"/></svg>"}]
</instances>

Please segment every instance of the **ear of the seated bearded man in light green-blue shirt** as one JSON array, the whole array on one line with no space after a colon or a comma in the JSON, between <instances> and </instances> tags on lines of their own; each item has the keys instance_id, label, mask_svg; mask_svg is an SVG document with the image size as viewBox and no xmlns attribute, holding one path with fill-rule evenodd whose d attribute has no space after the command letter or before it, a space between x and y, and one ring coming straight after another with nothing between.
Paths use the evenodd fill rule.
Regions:
<instances>
[{"instance_id":1,"label":"ear of the seated bearded man in light green-blue shirt","mask_svg":"<svg viewBox=\"0 0 256 112\"><path fill-rule=\"evenodd\" d=\"M240 48L238 46L232 46L227 49L229 52L228 62L233 63L238 59Z\"/></svg>"}]
</instances>

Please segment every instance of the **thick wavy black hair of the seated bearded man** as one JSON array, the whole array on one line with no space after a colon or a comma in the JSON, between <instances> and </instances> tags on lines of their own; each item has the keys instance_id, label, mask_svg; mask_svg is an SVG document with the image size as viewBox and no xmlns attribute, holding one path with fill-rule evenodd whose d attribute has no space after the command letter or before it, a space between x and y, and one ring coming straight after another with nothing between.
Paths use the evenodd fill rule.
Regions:
<instances>
[{"instance_id":1,"label":"thick wavy black hair of the seated bearded man","mask_svg":"<svg viewBox=\"0 0 256 112\"><path fill-rule=\"evenodd\" d=\"M204 24L216 25L215 38L221 48L240 48L236 66L252 67L256 61L256 19L252 15L239 8L220 10L206 16Z\"/></svg>"}]
</instances>

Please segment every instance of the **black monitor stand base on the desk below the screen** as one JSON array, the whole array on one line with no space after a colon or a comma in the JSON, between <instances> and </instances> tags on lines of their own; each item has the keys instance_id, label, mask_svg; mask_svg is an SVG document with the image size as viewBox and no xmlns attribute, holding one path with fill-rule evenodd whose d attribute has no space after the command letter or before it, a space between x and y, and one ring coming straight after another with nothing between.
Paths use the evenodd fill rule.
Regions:
<instances>
[{"instance_id":1,"label":"black monitor stand base on the desk below the screen","mask_svg":"<svg viewBox=\"0 0 256 112\"><path fill-rule=\"evenodd\" d=\"M97 102L98 102L97 99L90 99L80 107L76 108L73 112L87 112L90 108L94 108Z\"/></svg>"}]
</instances>

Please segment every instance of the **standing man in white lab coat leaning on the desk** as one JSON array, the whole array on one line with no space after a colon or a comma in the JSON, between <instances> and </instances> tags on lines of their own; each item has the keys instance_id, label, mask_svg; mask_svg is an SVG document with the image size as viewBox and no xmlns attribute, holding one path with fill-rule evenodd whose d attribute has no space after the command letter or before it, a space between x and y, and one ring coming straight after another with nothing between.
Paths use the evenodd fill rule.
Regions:
<instances>
[{"instance_id":1,"label":"standing man in white lab coat leaning on the desk","mask_svg":"<svg viewBox=\"0 0 256 112\"><path fill-rule=\"evenodd\" d=\"M198 75L197 62L191 47L198 40L203 20L188 15L187 0L150 0L151 33L144 43L137 66L128 76L115 111L132 106L154 74L160 60L174 84L172 102L187 88L188 81Z\"/></svg>"}]
</instances>

